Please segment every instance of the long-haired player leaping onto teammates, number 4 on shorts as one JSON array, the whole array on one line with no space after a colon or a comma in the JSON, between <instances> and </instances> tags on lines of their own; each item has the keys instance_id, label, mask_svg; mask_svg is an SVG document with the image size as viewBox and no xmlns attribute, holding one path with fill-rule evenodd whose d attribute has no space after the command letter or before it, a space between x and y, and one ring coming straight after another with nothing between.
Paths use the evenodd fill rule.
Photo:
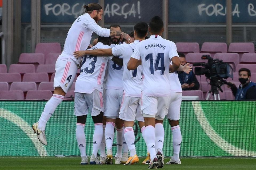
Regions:
<instances>
[{"instance_id":1,"label":"long-haired player leaping onto teammates, number 4 on shorts","mask_svg":"<svg viewBox=\"0 0 256 170\"><path fill-rule=\"evenodd\" d=\"M67 33L63 52L58 57L55 64L54 95L46 103L45 108L38 122L33 124L33 130L38 136L39 141L47 145L45 137L45 126L57 106L64 99L65 94L72 86L77 73L77 65L81 58L74 58L73 52L76 50L86 50L91 41L93 32L99 36L109 37L123 35L129 39L129 35L123 32L110 31L101 28L97 23L102 19L103 10L97 3L90 3L84 6L85 14L79 16Z\"/></svg>"}]
</instances>

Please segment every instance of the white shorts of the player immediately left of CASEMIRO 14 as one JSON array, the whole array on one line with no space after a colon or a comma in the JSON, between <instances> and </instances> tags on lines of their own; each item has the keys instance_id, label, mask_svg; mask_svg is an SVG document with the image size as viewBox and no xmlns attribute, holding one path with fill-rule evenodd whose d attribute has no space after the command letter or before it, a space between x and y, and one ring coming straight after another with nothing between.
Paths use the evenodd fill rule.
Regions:
<instances>
[{"instance_id":1,"label":"white shorts of the player immediately left of CASEMIRO 14","mask_svg":"<svg viewBox=\"0 0 256 170\"><path fill-rule=\"evenodd\" d=\"M141 115L141 98L123 96L121 103L119 118L125 121L141 121L144 122L144 117Z\"/></svg>"}]
</instances>

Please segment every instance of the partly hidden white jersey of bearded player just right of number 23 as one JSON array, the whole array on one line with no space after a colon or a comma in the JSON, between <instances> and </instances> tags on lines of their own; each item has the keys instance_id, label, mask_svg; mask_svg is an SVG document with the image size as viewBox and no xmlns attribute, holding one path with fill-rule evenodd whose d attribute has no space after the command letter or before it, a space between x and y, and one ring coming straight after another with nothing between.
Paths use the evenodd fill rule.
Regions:
<instances>
[{"instance_id":1,"label":"partly hidden white jersey of bearded player just right of number 23","mask_svg":"<svg viewBox=\"0 0 256 170\"><path fill-rule=\"evenodd\" d=\"M122 44L121 42L119 44ZM118 46L115 44L111 44L111 47ZM119 56L116 56L119 57ZM107 73L107 83L106 89L116 89L123 90L123 66L117 65L112 60L109 60L108 63L108 73Z\"/></svg>"}]
</instances>

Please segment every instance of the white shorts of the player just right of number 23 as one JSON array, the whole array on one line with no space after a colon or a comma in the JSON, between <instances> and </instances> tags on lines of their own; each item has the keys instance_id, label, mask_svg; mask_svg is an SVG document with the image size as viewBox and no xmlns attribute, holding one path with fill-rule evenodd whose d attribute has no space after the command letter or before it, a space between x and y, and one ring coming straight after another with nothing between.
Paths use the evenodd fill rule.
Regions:
<instances>
[{"instance_id":1,"label":"white shorts of the player just right of number 23","mask_svg":"<svg viewBox=\"0 0 256 170\"><path fill-rule=\"evenodd\" d=\"M104 97L104 116L111 119L118 118L123 99L123 90L106 89Z\"/></svg>"}]
</instances>

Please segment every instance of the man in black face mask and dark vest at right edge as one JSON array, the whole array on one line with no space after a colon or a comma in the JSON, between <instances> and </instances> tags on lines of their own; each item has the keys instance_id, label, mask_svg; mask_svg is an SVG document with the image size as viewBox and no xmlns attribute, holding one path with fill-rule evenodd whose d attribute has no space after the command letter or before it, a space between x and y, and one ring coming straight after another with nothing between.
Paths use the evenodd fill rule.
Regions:
<instances>
[{"instance_id":1,"label":"man in black face mask and dark vest at right edge","mask_svg":"<svg viewBox=\"0 0 256 170\"><path fill-rule=\"evenodd\" d=\"M246 68L241 68L239 74L239 88L235 84L228 82L228 87L231 88L235 100L239 99L256 99L256 83L251 82L251 71Z\"/></svg>"}]
</instances>

